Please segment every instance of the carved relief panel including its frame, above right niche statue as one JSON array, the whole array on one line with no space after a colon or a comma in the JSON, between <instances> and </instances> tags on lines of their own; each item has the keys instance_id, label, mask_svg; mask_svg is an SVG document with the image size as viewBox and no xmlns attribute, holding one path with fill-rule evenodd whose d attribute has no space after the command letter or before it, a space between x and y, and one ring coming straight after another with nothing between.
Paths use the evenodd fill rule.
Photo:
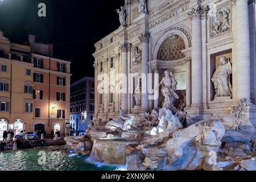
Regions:
<instances>
[{"instance_id":1,"label":"carved relief panel including its frame, above right niche statue","mask_svg":"<svg viewBox=\"0 0 256 182\"><path fill-rule=\"evenodd\" d=\"M210 37L232 31L232 13L230 2L210 9Z\"/></svg>"}]
</instances>

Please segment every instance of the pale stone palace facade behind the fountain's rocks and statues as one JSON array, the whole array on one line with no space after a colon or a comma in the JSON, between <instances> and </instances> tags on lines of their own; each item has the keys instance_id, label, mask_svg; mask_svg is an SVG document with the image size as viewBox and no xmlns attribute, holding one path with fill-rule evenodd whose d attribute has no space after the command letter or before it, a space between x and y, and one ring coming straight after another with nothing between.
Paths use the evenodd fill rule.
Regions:
<instances>
[{"instance_id":1,"label":"pale stone palace facade behind the fountain's rocks and statues","mask_svg":"<svg viewBox=\"0 0 256 182\"><path fill-rule=\"evenodd\" d=\"M256 125L255 1L123 2L121 26L95 44L98 125L117 121L119 109L137 114L162 107L164 96L158 85L166 70L177 82L175 107L184 109L188 123L212 114L224 119L245 98L246 114ZM220 76L224 65L229 65L223 73L226 82L216 83L213 77ZM102 86L103 81L110 84ZM220 93L220 85L228 93ZM136 88L142 93L138 103ZM113 96L112 90L119 92Z\"/></svg>"}]
</instances>

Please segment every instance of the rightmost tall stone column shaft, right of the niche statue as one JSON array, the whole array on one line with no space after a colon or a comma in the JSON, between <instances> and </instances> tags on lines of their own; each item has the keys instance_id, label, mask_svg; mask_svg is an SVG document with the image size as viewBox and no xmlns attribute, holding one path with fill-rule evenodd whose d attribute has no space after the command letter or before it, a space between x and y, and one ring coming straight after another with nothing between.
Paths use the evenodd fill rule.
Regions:
<instances>
[{"instance_id":1,"label":"rightmost tall stone column shaft, right of the niche statue","mask_svg":"<svg viewBox=\"0 0 256 182\"><path fill-rule=\"evenodd\" d=\"M237 100L246 98L250 102L250 34L247 0L236 1L236 78Z\"/></svg>"}]
</instances>

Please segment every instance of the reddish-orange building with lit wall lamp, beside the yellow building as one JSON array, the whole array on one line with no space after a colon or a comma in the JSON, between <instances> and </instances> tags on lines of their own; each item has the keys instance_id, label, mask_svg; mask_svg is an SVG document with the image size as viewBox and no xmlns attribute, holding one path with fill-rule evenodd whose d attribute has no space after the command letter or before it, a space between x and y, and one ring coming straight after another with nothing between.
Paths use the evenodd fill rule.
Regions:
<instances>
[{"instance_id":1,"label":"reddish-orange building with lit wall lamp, beside the yellow building","mask_svg":"<svg viewBox=\"0 0 256 182\"><path fill-rule=\"evenodd\" d=\"M69 120L70 62L32 53L34 115L32 129L59 130Z\"/></svg>"}]
</instances>

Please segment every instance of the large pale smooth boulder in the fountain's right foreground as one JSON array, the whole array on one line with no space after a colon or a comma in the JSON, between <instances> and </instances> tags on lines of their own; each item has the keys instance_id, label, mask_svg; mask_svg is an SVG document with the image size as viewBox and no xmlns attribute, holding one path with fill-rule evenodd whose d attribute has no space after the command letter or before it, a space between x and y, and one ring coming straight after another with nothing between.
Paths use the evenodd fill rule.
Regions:
<instances>
[{"instance_id":1,"label":"large pale smooth boulder in the fountain's right foreground","mask_svg":"<svg viewBox=\"0 0 256 182\"><path fill-rule=\"evenodd\" d=\"M183 156L184 148L195 142L199 150L208 153L217 152L221 146L221 139L224 137L225 129L220 119L206 119L189 126L186 129L174 133L174 138L166 144L168 152L168 163L174 164ZM191 160L192 162L192 160Z\"/></svg>"}]
</instances>

